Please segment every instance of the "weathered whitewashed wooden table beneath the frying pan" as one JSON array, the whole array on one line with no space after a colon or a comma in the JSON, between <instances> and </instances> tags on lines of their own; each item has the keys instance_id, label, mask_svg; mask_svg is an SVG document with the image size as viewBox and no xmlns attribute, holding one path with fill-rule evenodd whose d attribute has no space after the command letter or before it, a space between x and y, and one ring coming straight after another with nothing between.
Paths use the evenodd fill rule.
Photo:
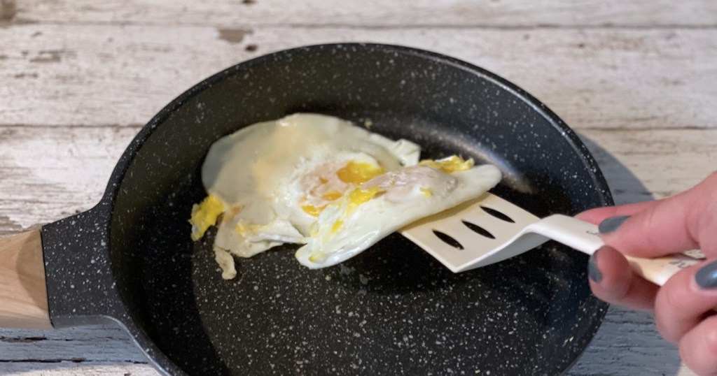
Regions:
<instances>
[{"instance_id":1,"label":"weathered whitewashed wooden table beneath the frying pan","mask_svg":"<svg viewBox=\"0 0 717 376\"><path fill-rule=\"evenodd\" d=\"M0 235L90 208L140 127L201 79L323 42L510 79L581 135L617 203L717 167L714 0L0 0ZM19 374L158 375L115 327L0 329L0 375ZM569 375L693 373L649 315L612 307Z\"/></svg>"}]
</instances>

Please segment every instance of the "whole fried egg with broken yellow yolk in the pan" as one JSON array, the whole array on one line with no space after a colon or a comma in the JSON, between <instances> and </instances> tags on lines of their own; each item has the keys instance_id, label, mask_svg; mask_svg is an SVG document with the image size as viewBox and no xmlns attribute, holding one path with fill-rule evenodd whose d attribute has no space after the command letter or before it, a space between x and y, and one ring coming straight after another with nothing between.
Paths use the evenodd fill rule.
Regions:
<instances>
[{"instance_id":1,"label":"whole fried egg with broken yellow yolk in the pan","mask_svg":"<svg viewBox=\"0 0 717 376\"><path fill-rule=\"evenodd\" d=\"M344 261L413 221L483 194L492 165L452 157L419 163L420 148L337 117L295 114L217 140L202 165L208 196L192 208L191 236L217 226L224 279L234 256L285 243L312 268Z\"/></svg>"}]
</instances>

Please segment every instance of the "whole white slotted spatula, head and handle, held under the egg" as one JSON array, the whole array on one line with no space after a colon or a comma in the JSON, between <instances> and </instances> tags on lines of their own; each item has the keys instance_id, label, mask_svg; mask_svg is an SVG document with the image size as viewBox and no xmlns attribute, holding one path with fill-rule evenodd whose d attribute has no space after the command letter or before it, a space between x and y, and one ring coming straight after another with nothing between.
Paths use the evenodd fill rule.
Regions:
<instances>
[{"instance_id":1,"label":"whole white slotted spatula, head and handle, held under the egg","mask_svg":"<svg viewBox=\"0 0 717 376\"><path fill-rule=\"evenodd\" d=\"M561 214L541 219L492 193L400 232L454 273L518 256L550 239L589 255L604 245L592 223ZM627 259L637 274L662 286L703 257L699 251L690 251L659 259Z\"/></svg>"}]
</instances>

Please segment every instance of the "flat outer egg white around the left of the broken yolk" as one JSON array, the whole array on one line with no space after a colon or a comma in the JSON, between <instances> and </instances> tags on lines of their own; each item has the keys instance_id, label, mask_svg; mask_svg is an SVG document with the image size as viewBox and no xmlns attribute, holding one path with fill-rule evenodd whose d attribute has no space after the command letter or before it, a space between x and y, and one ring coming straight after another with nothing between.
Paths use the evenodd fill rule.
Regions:
<instances>
[{"instance_id":1,"label":"flat outer egg white around the left of the broken yolk","mask_svg":"<svg viewBox=\"0 0 717 376\"><path fill-rule=\"evenodd\" d=\"M217 140L202 165L202 183L225 210L239 208L233 218L217 224L214 251L224 278L236 274L228 253L249 257L283 243L303 242L315 218L295 202L300 192L286 190L292 183L287 177L299 178L297 173L312 163L347 155L369 155L391 170L417 164L419 154L419 145L410 141L390 140L338 117L316 114L259 122ZM240 220L261 228L242 235L236 231Z\"/></svg>"}]
</instances>

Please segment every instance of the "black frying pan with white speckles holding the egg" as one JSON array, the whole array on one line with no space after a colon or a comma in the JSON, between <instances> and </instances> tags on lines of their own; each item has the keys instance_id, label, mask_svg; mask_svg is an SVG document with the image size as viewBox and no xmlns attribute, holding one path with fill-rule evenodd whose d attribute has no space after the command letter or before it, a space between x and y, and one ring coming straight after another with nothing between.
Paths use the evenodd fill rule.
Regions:
<instances>
[{"instance_id":1,"label":"black frying pan with white speckles holding the egg","mask_svg":"<svg viewBox=\"0 0 717 376\"><path fill-rule=\"evenodd\" d=\"M6 242L24 270L18 291L47 286L47 301L14 302L35 308L4 312L4 322L113 321L167 375L559 375L579 357L607 305L590 293L586 256L554 243L461 274L397 234L320 270L282 246L239 260L237 279L222 280L214 233L189 237L204 155L223 135L295 112L372 123L422 145L424 158L494 163L505 177L493 191L538 216L612 204L574 132L495 74L407 47L290 49L167 105L97 206L42 227L42 249Z\"/></svg>"}]
</instances>

